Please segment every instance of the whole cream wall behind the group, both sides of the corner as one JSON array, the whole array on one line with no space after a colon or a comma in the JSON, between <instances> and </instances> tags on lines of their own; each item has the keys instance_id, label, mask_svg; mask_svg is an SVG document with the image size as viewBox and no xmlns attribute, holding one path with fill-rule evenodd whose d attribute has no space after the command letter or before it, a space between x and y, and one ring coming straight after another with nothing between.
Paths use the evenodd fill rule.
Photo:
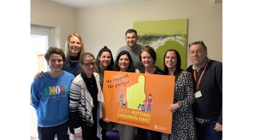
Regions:
<instances>
[{"instance_id":1,"label":"whole cream wall behind the group, both sides of the corner","mask_svg":"<svg viewBox=\"0 0 256 140\"><path fill-rule=\"evenodd\" d=\"M132 22L188 19L188 43L203 40L210 59L222 62L222 3L214 0L156 0L134 4L74 9L49 0L31 0L31 23L59 27L64 49L70 33L83 38L95 56L103 46L113 55L124 46ZM191 64L187 57L187 66Z\"/></svg>"}]
</instances>

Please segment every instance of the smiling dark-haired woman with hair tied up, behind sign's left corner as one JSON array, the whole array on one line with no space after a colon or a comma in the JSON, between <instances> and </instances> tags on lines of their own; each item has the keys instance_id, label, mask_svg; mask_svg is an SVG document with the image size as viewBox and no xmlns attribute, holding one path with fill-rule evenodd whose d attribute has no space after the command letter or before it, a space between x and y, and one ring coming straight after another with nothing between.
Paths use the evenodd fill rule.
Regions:
<instances>
[{"instance_id":1,"label":"smiling dark-haired woman with hair tied up, behind sign's left corner","mask_svg":"<svg viewBox=\"0 0 256 140\"><path fill-rule=\"evenodd\" d=\"M114 60L111 50L104 46L100 49L98 56L96 58L96 68L95 73L99 74L100 77L100 87L103 88L104 71L113 71ZM106 132L112 131L112 127L115 127L113 123L102 122L102 140L106 140Z\"/></svg>"}]
</instances>

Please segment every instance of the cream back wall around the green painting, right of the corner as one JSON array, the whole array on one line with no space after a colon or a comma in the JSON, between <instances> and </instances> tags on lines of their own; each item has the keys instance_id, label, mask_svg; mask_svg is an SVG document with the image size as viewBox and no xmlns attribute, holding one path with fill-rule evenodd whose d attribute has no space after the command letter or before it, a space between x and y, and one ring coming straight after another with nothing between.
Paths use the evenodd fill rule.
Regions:
<instances>
[{"instance_id":1,"label":"cream back wall around the green painting, right of the corner","mask_svg":"<svg viewBox=\"0 0 256 140\"><path fill-rule=\"evenodd\" d=\"M188 43L203 40L209 58L222 62L222 3L214 4L214 0L156 0L82 8L76 11L76 27L86 52L96 56L106 45L115 56L126 44L125 32L132 22L180 18L188 19Z\"/></svg>"}]
</instances>

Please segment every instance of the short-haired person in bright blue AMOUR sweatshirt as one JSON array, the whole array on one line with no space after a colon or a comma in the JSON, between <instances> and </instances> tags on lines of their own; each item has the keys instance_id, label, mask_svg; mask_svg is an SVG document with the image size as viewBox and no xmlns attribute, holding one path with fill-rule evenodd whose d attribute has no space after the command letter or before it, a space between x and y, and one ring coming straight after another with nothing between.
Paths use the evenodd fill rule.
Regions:
<instances>
[{"instance_id":1,"label":"short-haired person in bright blue AMOUR sweatshirt","mask_svg":"<svg viewBox=\"0 0 256 140\"><path fill-rule=\"evenodd\" d=\"M44 58L50 70L31 85L31 103L38 117L39 140L69 140L69 91L74 76L61 70L65 62L62 49L50 47Z\"/></svg>"}]
</instances>

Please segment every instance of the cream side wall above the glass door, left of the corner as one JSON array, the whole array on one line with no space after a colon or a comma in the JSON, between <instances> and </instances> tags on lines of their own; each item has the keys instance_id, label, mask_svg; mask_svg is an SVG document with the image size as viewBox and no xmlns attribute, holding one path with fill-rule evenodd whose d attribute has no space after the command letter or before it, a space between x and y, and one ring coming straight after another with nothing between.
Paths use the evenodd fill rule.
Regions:
<instances>
[{"instance_id":1,"label":"cream side wall above the glass door, left of the corner","mask_svg":"<svg viewBox=\"0 0 256 140\"><path fill-rule=\"evenodd\" d=\"M58 27L60 46L65 50L68 35L76 32L76 10L49 0L30 0L30 5L30 22Z\"/></svg>"}]
</instances>

